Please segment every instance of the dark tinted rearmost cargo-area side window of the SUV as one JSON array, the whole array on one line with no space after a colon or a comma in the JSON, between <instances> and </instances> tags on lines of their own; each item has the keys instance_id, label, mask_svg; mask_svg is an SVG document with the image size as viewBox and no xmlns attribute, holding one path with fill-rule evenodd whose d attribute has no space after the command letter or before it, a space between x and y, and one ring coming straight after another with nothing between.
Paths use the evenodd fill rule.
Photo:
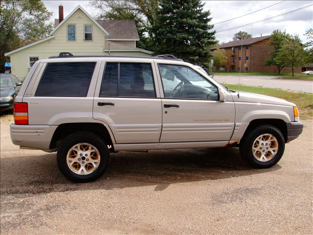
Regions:
<instances>
[{"instance_id":1,"label":"dark tinted rearmost cargo-area side window of the SUV","mask_svg":"<svg viewBox=\"0 0 313 235\"><path fill-rule=\"evenodd\" d=\"M35 96L86 97L96 62L48 63Z\"/></svg>"}]
</instances>

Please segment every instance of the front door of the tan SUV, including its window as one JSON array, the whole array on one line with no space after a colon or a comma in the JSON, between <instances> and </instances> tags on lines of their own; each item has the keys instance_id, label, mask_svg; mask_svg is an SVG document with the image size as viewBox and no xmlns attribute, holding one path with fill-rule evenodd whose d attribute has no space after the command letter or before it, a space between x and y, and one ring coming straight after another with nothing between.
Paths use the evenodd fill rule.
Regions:
<instances>
[{"instance_id":1,"label":"front door of the tan SUV, including its window","mask_svg":"<svg viewBox=\"0 0 313 235\"><path fill-rule=\"evenodd\" d=\"M190 67L158 64L163 84L160 142L229 141L233 101L219 101L216 86Z\"/></svg>"}]
</instances>

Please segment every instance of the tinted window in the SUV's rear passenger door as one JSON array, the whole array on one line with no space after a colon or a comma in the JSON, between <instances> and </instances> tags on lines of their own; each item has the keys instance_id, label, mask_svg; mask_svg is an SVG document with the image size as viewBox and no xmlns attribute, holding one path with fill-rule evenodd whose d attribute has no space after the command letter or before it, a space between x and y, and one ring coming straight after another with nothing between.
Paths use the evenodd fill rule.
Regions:
<instances>
[{"instance_id":1,"label":"tinted window in the SUV's rear passenger door","mask_svg":"<svg viewBox=\"0 0 313 235\"><path fill-rule=\"evenodd\" d=\"M101 96L156 97L151 64L107 63Z\"/></svg>"}]
</instances>

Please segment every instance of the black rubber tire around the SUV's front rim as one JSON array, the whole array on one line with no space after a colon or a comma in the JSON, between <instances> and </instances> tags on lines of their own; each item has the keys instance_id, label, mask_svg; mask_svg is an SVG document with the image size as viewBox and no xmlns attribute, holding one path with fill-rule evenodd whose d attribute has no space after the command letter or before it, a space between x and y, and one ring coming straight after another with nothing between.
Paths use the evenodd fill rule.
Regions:
<instances>
[{"instance_id":1,"label":"black rubber tire around the SUV's front rim","mask_svg":"<svg viewBox=\"0 0 313 235\"><path fill-rule=\"evenodd\" d=\"M262 134L271 134L274 136L278 142L278 150L274 157L267 162L261 162L253 156L252 145L254 141ZM261 125L256 126L248 130L243 139L240 141L240 155L243 160L252 167L255 168L268 168L276 163L282 158L285 150L285 139L281 131L272 125ZM263 151L263 150L262 150ZM267 151L267 150L265 150Z\"/></svg>"}]
</instances>

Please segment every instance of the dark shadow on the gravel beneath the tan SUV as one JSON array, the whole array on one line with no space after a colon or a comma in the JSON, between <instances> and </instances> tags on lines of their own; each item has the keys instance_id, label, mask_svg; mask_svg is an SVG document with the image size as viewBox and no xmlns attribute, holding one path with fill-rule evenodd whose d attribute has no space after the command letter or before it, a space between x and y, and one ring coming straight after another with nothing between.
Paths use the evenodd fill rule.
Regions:
<instances>
[{"instance_id":1,"label":"dark shadow on the gravel beneath the tan SUV","mask_svg":"<svg viewBox=\"0 0 313 235\"><path fill-rule=\"evenodd\" d=\"M238 148L201 148L111 154L107 172L97 181L76 184L58 170L56 154L1 158L1 194L37 194L70 190L118 189L217 180L262 174L281 168L249 168Z\"/></svg>"}]
</instances>

